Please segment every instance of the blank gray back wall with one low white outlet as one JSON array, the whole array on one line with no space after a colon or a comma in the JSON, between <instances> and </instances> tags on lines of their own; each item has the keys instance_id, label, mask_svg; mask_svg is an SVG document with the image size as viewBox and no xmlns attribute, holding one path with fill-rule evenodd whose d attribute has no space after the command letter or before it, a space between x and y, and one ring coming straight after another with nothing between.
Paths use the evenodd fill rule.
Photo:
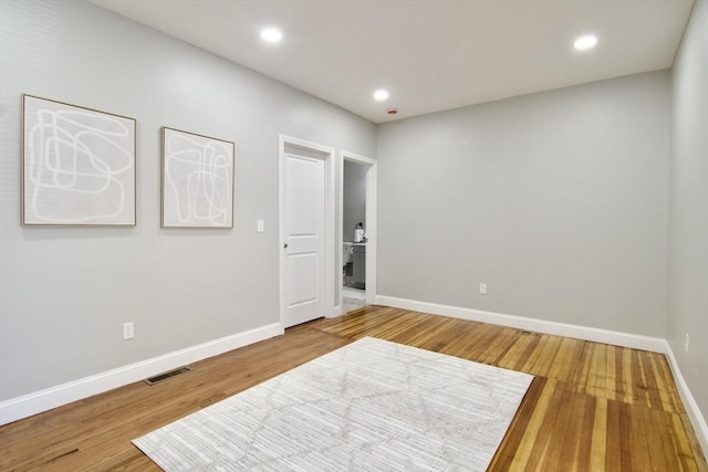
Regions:
<instances>
[{"instance_id":1,"label":"blank gray back wall with one low white outlet","mask_svg":"<svg viewBox=\"0 0 708 472\"><path fill-rule=\"evenodd\" d=\"M664 337L669 81L381 125L378 294Z\"/></svg>"}]
</instances>

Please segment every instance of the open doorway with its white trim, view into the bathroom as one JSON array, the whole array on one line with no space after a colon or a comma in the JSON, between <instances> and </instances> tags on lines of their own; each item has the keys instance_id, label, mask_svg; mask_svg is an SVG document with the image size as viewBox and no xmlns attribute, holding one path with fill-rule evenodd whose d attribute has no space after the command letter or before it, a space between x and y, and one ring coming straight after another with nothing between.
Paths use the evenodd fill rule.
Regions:
<instances>
[{"instance_id":1,"label":"open doorway with its white trim, view into the bathroom","mask_svg":"<svg viewBox=\"0 0 708 472\"><path fill-rule=\"evenodd\" d=\"M376 161L342 153L342 313L376 296Z\"/></svg>"}]
</instances>

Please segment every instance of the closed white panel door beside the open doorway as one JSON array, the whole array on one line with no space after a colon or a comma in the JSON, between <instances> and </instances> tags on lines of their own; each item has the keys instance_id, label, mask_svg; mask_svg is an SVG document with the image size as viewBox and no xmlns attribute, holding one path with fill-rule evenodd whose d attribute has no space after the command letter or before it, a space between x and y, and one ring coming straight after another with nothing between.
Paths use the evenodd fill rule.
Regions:
<instances>
[{"instance_id":1,"label":"closed white panel door beside the open doorway","mask_svg":"<svg viewBox=\"0 0 708 472\"><path fill-rule=\"evenodd\" d=\"M324 316L324 159L284 162L284 327Z\"/></svg>"}]
</instances>

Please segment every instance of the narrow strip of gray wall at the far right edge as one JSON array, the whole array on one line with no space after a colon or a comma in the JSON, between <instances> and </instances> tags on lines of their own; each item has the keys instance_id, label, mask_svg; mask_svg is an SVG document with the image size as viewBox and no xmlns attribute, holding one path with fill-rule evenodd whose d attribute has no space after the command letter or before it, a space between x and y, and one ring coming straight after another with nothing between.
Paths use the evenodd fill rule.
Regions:
<instances>
[{"instance_id":1,"label":"narrow strip of gray wall at the far right edge","mask_svg":"<svg viewBox=\"0 0 708 472\"><path fill-rule=\"evenodd\" d=\"M708 1L694 6L673 70L667 339L708 418ZM685 336L690 335L686 353Z\"/></svg>"}]
</instances>

